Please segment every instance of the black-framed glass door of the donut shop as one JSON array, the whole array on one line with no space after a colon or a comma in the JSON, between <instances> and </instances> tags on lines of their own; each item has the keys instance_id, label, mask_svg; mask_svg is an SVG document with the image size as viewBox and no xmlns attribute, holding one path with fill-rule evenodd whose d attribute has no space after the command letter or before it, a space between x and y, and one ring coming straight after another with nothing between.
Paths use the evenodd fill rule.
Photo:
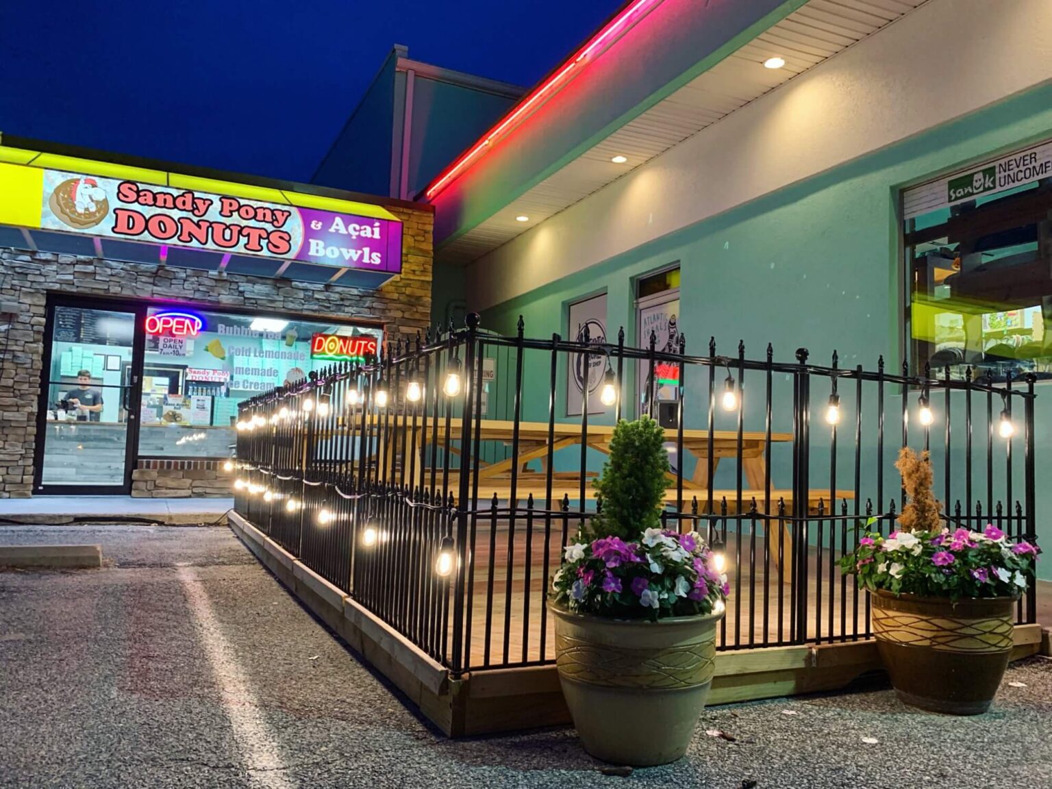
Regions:
<instances>
[{"instance_id":1,"label":"black-framed glass door of the donut shop","mask_svg":"<svg viewBox=\"0 0 1052 789\"><path fill-rule=\"evenodd\" d=\"M143 340L135 308L48 306L34 492L128 493Z\"/></svg>"}]
</instances>

